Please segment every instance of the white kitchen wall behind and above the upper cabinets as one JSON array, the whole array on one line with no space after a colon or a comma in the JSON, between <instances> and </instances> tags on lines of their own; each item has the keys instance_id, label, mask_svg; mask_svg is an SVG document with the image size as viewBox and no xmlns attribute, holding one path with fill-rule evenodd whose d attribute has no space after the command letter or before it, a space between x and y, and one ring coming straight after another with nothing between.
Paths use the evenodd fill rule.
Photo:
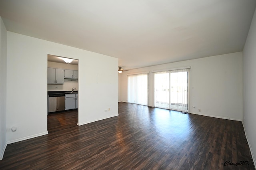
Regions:
<instances>
[{"instance_id":1,"label":"white kitchen wall behind and above the upper cabinets","mask_svg":"<svg viewBox=\"0 0 256 170\"><path fill-rule=\"evenodd\" d=\"M62 56L63 57L63 56ZM72 64L64 64L64 63L55 63L48 61L48 67L58 68L58 69L70 69L77 70L77 65ZM77 79L64 79L64 83L62 85L47 85L48 91L71 91L72 88L76 88L78 90L78 80Z\"/></svg>"}]
</instances>

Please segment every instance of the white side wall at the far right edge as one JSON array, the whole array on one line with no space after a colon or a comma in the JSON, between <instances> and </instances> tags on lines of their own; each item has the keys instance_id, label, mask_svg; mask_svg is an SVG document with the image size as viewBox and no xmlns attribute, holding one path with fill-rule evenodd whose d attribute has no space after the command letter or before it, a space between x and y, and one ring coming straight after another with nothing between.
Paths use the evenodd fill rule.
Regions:
<instances>
[{"instance_id":1,"label":"white side wall at the far right edge","mask_svg":"<svg viewBox=\"0 0 256 170\"><path fill-rule=\"evenodd\" d=\"M254 165L256 165L256 12L254 12L243 55L243 125Z\"/></svg>"}]
</instances>

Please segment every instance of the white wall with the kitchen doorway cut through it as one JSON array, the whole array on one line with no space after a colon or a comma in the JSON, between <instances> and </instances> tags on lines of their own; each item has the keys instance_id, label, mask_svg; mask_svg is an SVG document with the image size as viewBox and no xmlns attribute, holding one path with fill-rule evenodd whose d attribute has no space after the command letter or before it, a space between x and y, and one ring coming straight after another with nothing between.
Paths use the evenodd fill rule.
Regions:
<instances>
[{"instance_id":1,"label":"white wall with the kitchen doorway cut through it","mask_svg":"<svg viewBox=\"0 0 256 170\"><path fill-rule=\"evenodd\" d=\"M7 32L8 143L47 134L48 54L79 60L79 125L118 115L117 58Z\"/></svg>"}]
</instances>

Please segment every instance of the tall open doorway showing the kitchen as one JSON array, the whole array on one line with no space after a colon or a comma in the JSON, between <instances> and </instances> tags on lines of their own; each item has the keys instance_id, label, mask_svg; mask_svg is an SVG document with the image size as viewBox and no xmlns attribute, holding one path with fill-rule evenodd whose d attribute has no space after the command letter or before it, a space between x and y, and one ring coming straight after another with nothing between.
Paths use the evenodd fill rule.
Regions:
<instances>
[{"instance_id":1,"label":"tall open doorway showing the kitchen","mask_svg":"<svg viewBox=\"0 0 256 170\"><path fill-rule=\"evenodd\" d=\"M49 54L47 59L47 130L50 133L78 125L78 60Z\"/></svg>"}]
</instances>

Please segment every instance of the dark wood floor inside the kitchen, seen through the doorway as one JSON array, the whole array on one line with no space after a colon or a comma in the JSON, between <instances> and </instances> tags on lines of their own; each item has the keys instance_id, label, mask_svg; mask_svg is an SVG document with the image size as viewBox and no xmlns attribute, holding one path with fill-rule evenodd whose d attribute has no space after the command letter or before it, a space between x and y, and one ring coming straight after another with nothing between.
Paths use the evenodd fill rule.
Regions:
<instances>
[{"instance_id":1,"label":"dark wood floor inside the kitchen, seen through the doorway","mask_svg":"<svg viewBox=\"0 0 256 170\"><path fill-rule=\"evenodd\" d=\"M48 133L75 126L77 126L77 109L48 114Z\"/></svg>"}]
</instances>

